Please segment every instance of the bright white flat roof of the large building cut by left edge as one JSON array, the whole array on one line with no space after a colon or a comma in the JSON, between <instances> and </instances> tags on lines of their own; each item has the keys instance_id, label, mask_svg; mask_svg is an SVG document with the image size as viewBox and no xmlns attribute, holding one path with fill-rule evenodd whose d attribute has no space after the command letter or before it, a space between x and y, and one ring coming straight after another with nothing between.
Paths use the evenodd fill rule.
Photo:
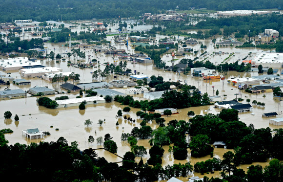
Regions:
<instances>
[{"instance_id":1,"label":"bright white flat roof of the large building cut by left edge","mask_svg":"<svg viewBox=\"0 0 283 182\"><path fill-rule=\"evenodd\" d=\"M5 60L0 60L0 66L3 68L14 68L14 67L23 67L23 66L37 66L41 65L39 62L29 61L26 57L18 58L8 58Z\"/></svg>"}]
</instances>

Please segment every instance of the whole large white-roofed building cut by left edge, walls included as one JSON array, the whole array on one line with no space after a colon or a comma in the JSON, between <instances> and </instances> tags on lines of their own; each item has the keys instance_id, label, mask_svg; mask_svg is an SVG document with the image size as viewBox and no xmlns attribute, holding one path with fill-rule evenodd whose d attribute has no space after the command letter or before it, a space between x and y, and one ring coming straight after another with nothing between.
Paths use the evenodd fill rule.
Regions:
<instances>
[{"instance_id":1,"label":"whole large white-roofed building cut by left edge, walls included","mask_svg":"<svg viewBox=\"0 0 283 182\"><path fill-rule=\"evenodd\" d=\"M8 58L6 60L0 60L0 69L1 70L18 70L23 68L24 66L38 66L41 65L40 60L36 60L35 62L29 61L26 57L18 57L18 58Z\"/></svg>"}]
</instances>

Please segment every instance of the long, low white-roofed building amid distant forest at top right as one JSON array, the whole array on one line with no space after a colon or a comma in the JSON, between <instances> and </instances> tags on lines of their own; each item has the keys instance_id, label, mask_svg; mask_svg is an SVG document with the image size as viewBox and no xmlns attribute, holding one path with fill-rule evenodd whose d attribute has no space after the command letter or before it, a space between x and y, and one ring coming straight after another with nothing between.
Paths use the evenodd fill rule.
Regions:
<instances>
[{"instance_id":1,"label":"long, low white-roofed building amid distant forest at top right","mask_svg":"<svg viewBox=\"0 0 283 182\"><path fill-rule=\"evenodd\" d=\"M255 10L234 10L234 11L218 11L218 16L236 17L236 16L251 16L251 15L266 15L272 11L255 11Z\"/></svg>"}]
</instances>

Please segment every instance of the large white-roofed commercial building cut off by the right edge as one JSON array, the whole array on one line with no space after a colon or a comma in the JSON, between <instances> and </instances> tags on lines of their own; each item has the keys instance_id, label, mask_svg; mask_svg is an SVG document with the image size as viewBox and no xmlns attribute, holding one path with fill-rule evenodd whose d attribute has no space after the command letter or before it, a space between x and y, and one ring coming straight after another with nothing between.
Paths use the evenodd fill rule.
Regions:
<instances>
[{"instance_id":1,"label":"large white-roofed commercial building cut off by the right edge","mask_svg":"<svg viewBox=\"0 0 283 182\"><path fill-rule=\"evenodd\" d=\"M253 67L281 68L283 66L283 53L261 52L251 61Z\"/></svg>"}]
</instances>

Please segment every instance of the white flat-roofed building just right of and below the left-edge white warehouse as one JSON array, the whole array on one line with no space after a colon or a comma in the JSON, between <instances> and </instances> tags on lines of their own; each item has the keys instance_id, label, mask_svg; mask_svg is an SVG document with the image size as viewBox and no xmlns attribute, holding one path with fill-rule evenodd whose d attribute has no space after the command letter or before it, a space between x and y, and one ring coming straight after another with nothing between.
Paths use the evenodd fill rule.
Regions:
<instances>
[{"instance_id":1,"label":"white flat-roofed building just right of and below the left-edge white warehouse","mask_svg":"<svg viewBox=\"0 0 283 182\"><path fill-rule=\"evenodd\" d=\"M35 78L42 77L45 73L58 73L61 72L61 68L56 67L44 67L44 68L30 68L30 69L21 69L20 76L26 78Z\"/></svg>"}]
</instances>

